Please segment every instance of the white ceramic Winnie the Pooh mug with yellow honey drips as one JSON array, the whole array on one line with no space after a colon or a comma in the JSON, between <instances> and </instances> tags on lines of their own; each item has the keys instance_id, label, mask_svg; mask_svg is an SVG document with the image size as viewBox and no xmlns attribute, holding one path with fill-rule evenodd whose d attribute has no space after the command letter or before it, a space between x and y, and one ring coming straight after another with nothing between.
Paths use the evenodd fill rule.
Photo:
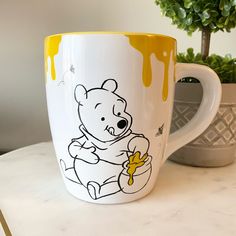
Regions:
<instances>
[{"instance_id":1,"label":"white ceramic Winnie the Pooh mug with yellow honey drips","mask_svg":"<svg viewBox=\"0 0 236 236\"><path fill-rule=\"evenodd\" d=\"M45 74L65 186L93 203L125 203L150 193L161 165L207 128L221 99L215 72L176 63L176 40L158 34L48 36ZM183 77L199 79L204 95L193 119L170 135L175 84Z\"/></svg>"}]
</instances>

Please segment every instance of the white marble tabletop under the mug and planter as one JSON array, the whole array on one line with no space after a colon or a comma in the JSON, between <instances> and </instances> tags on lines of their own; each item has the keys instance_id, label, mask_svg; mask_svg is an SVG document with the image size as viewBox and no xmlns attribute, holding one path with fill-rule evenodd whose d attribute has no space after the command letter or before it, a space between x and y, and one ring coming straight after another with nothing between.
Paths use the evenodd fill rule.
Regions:
<instances>
[{"instance_id":1,"label":"white marble tabletop under the mug and planter","mask_svg":"<svg viewBox=\"0 0 236 236\"><path fill-rule=\"evenodd\" d=\"M236 235L236 164L167 161L155 189L122 205L96 205L65 189L52 143L0 156L0 209L12 235Z\"/></svg>"}]
</instances>

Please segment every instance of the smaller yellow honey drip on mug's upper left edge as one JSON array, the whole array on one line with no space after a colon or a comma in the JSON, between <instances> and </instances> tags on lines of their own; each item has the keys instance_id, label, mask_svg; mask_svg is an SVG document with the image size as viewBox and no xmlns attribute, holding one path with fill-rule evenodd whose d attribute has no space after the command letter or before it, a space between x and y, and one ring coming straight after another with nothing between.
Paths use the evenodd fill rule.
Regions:
<instances>
[{"instance_id":1,"label":"smaller yellow honey drip on mug's upper left edge","mask_svg":"<svg viewBox=\"0 0 236 236\"><path fill-rule=\"evenodd\" d=\"M48 57L50 57L52 80L56 80L56 69L55 69L54 57L58 53L60 42L61 42L61 35L48 37L45 40L45 48L44 48L45 70L47 73L48 72Z\"/></svg>"}]
</instances>

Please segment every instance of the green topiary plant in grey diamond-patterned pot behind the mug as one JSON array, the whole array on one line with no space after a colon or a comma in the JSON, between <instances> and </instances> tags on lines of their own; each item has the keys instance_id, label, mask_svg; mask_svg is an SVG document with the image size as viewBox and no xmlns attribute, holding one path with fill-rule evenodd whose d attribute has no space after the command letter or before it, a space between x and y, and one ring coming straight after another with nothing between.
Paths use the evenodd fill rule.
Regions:
<instances>
[{"instance_id":1,"label":"green topiary plant in grey diamond-patterned pot behind the mug","mask_svg":"<svg viewBox=\"0 0 236 236\"><path fill-rule=\"evenodd\" d=\"M236 152L236 58L209 55L211 34L230 32L236 26L236 0L156 0L162 13L191 35L201 31L201 53L179 53L177 61L211 67L222 83L219 111L208 129L170 159L178 163L216 167L230 164ZM189 93L191 91L191 93ZM195 78L183 78L176 86L172 131L185 125L196 113L202 89Z\"/></svg>"}]
</instances>

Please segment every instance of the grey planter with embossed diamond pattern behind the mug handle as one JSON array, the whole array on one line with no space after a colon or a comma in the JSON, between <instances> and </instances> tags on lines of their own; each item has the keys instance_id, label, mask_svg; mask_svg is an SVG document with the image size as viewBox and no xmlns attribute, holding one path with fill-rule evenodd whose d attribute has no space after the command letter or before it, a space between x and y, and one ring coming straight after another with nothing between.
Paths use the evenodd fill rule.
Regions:
<instances>
[{"instance_id":1,"label":"grey planter with embossed diamond pattern behind the mug handle","mask_svg":"<svg viewBox=\"0 0 236 236\"><path fill-rule=\"evenodd\" d=\"M196 113L202 87L196 83L177 83L171 132L184 126ZM175 162L202 167L232 163L236 154L236 84L222 84L222 100L211 125L170 156Z\"/></svg>"}]
</instances>

